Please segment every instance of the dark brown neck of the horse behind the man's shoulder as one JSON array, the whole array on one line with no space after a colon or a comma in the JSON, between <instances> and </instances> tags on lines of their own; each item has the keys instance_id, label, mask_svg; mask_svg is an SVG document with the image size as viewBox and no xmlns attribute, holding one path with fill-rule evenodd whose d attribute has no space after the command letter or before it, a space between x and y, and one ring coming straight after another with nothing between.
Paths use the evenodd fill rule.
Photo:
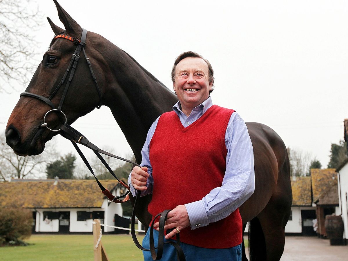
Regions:
<instances>
[{"instance_id":1,"label":"dark brown neck of the horse behind the man's shoulder","mask_svg":"<svg viewBox=\"0 0 348 261\"><path fill-rule=\"evenodd\" d=\"M175 94L115 46L109 65L108 92L104 102L132 148L137 161L151 124L177 101Z\"/></svg>"}]
</instances>

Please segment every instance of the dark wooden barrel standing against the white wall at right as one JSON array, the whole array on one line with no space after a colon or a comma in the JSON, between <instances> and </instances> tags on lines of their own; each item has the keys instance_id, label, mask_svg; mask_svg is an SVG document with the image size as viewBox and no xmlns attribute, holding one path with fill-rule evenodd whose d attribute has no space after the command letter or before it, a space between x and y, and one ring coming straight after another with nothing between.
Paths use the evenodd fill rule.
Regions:
<instances>
[{"instance_id":1,"label":"dark wooden barrel standing against the white wall at right","mask_svg":"<svg viewBox=\"0 0 348 261\"><path fill-rule=\"evenodd\" d=\"M343 245L343 221L341 216L326 215L325 229L327 238L330 239L330 245Z\"/></svg>"}]
</instances>

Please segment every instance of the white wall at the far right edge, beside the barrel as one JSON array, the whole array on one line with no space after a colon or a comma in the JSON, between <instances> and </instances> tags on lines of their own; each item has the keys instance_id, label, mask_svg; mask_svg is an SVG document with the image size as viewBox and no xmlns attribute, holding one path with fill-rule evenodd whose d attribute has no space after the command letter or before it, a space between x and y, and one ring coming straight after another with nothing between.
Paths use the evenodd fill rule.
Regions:
<instances>
[{"instance_id":1,"label":"white wall at the far right edge, beside the barrel","mask_svg":"<svg viewBox=\"0 0 348 261\"><path fill-rule=\"evenodd\" d=\"M346 164L340 171L339 171L339 178L338 178L338 191L339 191L339 213L341 214L342 211L342 219L343 224L345 227L345 231L343 233L343 238L348 239L348 210L347 210L347 199L346 199L346 193L348 193L348 164ZM341 189L341 191L340 191Z\"/></svg>"}]
</instances>

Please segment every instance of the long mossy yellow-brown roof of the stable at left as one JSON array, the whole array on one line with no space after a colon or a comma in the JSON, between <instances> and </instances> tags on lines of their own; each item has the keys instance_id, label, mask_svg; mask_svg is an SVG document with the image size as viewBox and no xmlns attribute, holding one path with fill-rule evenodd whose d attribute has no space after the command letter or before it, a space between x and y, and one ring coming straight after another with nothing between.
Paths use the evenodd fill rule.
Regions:
<instances>
[{"instance_id":1,"label":"long mossy yellow-brown roof of the stable at left","mask_svg":"<svg viewBox=\"0 0 348 261\"><path fill-rule=\"evenodd\" d=\"M0 182L0 206L25 208L101 207L104 194L95 180ZM109 191L119 184L102 180Z\"/></svg>"}]
</instances>

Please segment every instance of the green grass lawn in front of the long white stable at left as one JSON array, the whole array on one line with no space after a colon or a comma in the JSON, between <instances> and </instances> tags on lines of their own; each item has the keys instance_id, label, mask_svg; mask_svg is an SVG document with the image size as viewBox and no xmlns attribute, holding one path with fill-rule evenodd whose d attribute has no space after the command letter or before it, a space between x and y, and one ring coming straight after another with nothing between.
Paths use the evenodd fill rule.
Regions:
<instances>
[{"instance_id":1,"label":"green grass lawn in front of the long white stable at left","mask_svg":"<svg viewBox=\"0 0 348 261\"><path fill-rule=\"evenodd\" d=\"M137 236L142 242L144 236ZM32 235L29 246L0 248L0 260L94 260L93 235ZM102 243L110 260L143 260L130 235L103 235Z\"/></svg>"}]
</instances>

